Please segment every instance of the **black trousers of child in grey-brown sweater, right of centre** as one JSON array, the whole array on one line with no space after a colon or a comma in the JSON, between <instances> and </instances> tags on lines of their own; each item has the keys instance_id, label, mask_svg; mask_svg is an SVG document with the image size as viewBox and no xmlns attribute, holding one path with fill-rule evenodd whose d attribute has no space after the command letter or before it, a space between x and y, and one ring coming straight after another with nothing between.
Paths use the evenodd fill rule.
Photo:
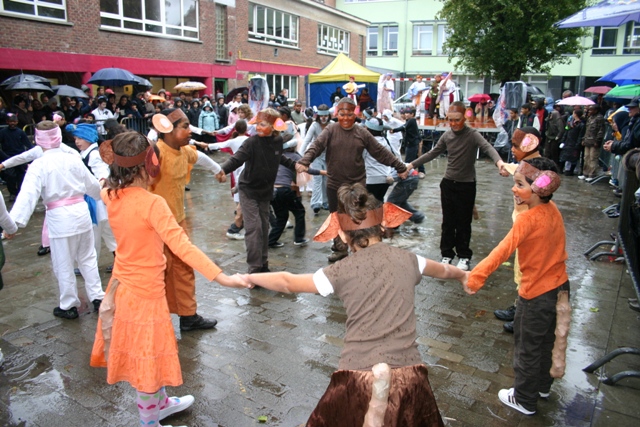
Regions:
<instances>
[{"instance_id":1,"label":"black trousers of child in grey-brown sweater, right of centre","mask_svg":"<svg viewBox=\"0 0 640 427\"><path fill-rule=\"evenodd\" d=\"M476 183L457 182L442 178L440 182L442 201L442 237L440 252L443 257L471 258L471 221L476 202Z\"/></svg>"}]
</instances>

